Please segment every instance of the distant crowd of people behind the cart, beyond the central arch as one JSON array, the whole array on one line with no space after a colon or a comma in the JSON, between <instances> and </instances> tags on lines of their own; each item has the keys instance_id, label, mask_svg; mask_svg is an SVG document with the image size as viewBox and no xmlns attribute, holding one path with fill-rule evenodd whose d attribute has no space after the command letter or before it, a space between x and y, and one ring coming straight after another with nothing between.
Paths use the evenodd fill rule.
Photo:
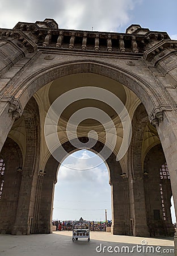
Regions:
<instances>
[{"instance_id":1,"label":"distant crowd of people behind the cart, beyond the central arch","mask_svg":"<svg viewBox=\"0 0 177 256\"><path fill-rule=\"evenodd\" d=\"M90 224L91 231L106 231L106 227L111 227L112 222L98 222L98 221L88 221ZM53 220L52 225L56 226L56 231L61 230L73 230L74 221L60 221L60 220Z\"/></svg>"}]
</instances>

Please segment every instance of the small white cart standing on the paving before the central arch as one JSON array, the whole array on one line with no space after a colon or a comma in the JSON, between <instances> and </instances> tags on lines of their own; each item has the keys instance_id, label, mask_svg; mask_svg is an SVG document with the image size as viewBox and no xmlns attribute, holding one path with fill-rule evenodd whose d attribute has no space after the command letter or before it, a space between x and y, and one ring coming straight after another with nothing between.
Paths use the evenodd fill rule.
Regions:
<instances>
[{"instance_id":1,"label":"small white cart standing on the paving before the central arch","mask_svg":"<svg viewBox=\"0 0 177 256\"><path fill-rule=\"evenodd\" d=\"M78 240L78 238L87 238L90 241L90 223L88 221L75 221L73 223L72 240Z\"/></svg>"}]
</instances>

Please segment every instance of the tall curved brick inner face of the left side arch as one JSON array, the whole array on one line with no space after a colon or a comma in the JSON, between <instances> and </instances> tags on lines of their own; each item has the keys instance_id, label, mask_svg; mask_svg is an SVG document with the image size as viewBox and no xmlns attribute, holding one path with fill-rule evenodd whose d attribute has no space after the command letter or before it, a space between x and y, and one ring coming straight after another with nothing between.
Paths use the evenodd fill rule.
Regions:
<instances>
[{"instance_id":1,"label":"tall curved brick inner face of the left side arch","mask_svg":"<svg viewBox=\"0 0 177 256\"><path fill-rule=\"evenodd\" d=\"M40 152L39 110L33 97L24 109L23 118L26 129L26 154L22 167L22 181L12 234L29 234L33 225Z\"/></svg>"}]
</instances>

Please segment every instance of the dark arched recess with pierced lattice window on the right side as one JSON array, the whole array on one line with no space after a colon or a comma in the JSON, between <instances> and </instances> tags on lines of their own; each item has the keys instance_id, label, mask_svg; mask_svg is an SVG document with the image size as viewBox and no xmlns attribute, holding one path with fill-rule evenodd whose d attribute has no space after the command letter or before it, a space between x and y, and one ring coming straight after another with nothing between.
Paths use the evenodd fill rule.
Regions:
<instances>
[{"instance_id":1,"label":"dark arched recess with pierced lattice window on the right side","mask_svg":"<svg viewBox=\"0 0 177 256\"><path fill-rule=\"evenodd\" d=\"M170 212L172 196L170 179L167 176L166 179L160 179L160 168L165 163L161 144L151 148L144 161L146 214L150 236L174 236L175 232Z\"/></svg>"}]
</instances>

